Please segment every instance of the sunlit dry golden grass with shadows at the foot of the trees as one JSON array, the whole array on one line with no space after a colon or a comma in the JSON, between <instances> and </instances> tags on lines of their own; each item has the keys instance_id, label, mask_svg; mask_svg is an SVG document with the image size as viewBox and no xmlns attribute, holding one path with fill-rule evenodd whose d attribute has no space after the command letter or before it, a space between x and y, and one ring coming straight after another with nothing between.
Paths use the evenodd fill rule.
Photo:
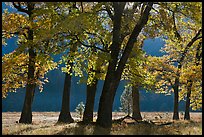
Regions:
<instances>
[{"instance_id":1,"label":"sunlit dry golden grass with shadows at the foot of the trees","mask_svg":"<svg viewBox=\"0 0 204 137\"><path fill-rule=\"evenodd\" d=\"M12 117L10 116L11 114L3 113L3 135L202 135L202 114L200 114L199 117L197 116L198 120L172 121L169 119L172 124L162 126L158 126L161 120L154 121L155 123L158 122L157 124L127 124L125 122L118 122L113 123L111 129L96 128L95 124L82 125L77 122L71 124L56 124L57 112L36 112L34 113L33 124L16 123L15 120L19 119L19 113L15 115L12 114ZM155 115L153 113L145 114L146 116ZM94 122L95 121L96 117L94 118ZM168 120L165 121L168 122Z\"/></svg>"}]
</instances>

